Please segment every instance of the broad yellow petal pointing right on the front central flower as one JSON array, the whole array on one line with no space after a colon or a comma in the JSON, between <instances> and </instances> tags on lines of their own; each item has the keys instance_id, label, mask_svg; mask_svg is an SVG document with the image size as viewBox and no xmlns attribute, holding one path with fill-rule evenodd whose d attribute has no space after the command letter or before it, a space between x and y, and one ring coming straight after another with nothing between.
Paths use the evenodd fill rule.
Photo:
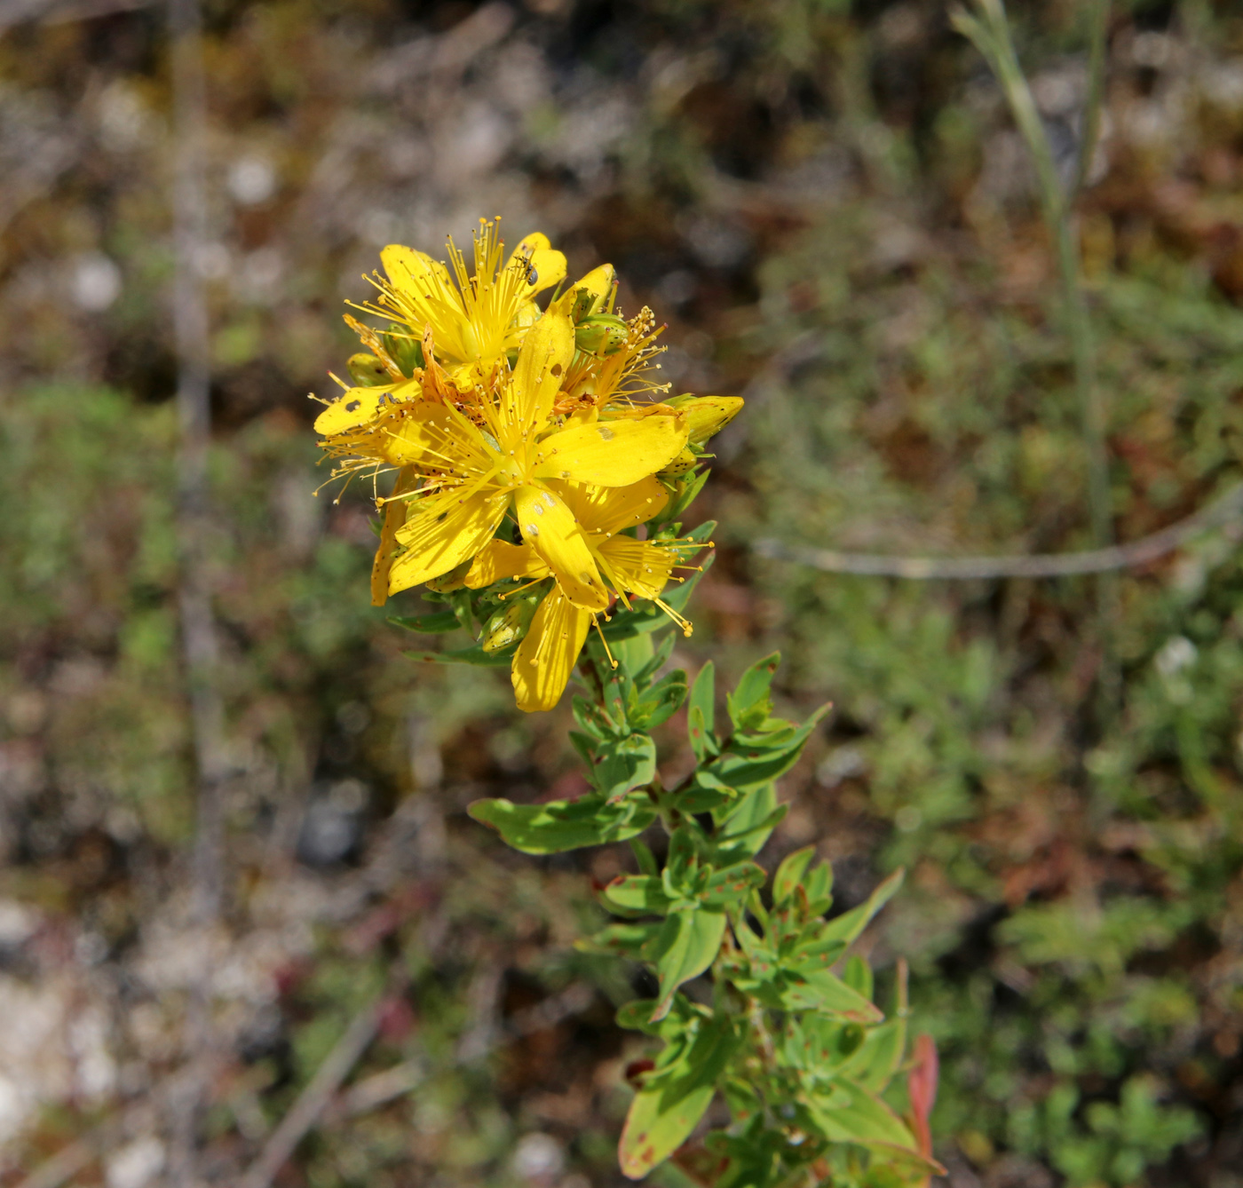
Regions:
<instances>
[{"instance_id":1,"label":"broad yellow petal pointing right on the front central flower","mask_svg":"<svg viewBox=\"0 0 1243 1188\"><path fill-rule=\"evenodd\" d=\"M532 475L598 487L629 487L667 466L685 445L686 425L681 418L597 421L544 439Z\"/></svg>"}]
</instances>

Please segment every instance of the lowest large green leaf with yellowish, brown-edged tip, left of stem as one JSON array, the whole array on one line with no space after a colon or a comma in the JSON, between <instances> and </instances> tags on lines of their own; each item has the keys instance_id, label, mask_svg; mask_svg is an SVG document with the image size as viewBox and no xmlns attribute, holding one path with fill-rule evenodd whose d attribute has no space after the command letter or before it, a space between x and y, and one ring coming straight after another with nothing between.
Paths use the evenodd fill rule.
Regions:
<instances>
[{"instance_id":1,"label":"lowest large green leaf with yellowish, brown-edged tip, left of stem","mask_svg":"<svg viewBox=\"0 0 1243 1188\"><path fill-rule=\"evenodd\" d=\"M677 1064L635 1094L618 1147L624 1176L641 1179L690 1137L737 1045L728 1017L713 1019Z\"/></svg>"}]
</instances>

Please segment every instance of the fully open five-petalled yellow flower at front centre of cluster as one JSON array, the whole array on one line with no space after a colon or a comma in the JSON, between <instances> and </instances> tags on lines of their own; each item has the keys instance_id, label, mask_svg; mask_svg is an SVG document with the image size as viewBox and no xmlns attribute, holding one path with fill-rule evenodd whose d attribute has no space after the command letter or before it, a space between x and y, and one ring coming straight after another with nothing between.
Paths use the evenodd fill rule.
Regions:
<instances>
[{"instance_id":1,"label":"fully open five-petalled yellow flower at front centre of cluster","mask_svg":"<svg viewBox=\"0 0 1243 1188\"><path fill-rule=\"evenodd\" d=\"M416 401L384 446L385 460L424 476L406 497L404 547L389 593L436 578L475 557L512 507L522 539L583 610L603 610L608 593L595 557L556 481L628 487L667 466L686 445L686 426L664 409L644 419L592 425L553 420L561 380L574 354L568 314L546 313L527 333L513 372L496 373L461 408Z\"/></svg>"}]
</instances>

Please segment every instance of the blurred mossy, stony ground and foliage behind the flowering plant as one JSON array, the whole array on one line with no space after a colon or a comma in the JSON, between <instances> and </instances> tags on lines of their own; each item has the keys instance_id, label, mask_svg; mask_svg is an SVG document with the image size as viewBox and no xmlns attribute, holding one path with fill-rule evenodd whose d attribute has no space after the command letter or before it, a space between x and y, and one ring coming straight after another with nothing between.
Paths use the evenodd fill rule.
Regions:
<instances>
[{"instance_id":1,"label":"blurred mossy, stony ground and foliage behind the flowering plant","mask_svg":"<svg viewBox=\"0 0 1243 1188\"><path fill-rule=\"evenodd\" d=\"M1011 10L1070 158L1083 6ZM676 389L748 399L697 506L720 557L677 659L733 677L777 646L794 715L835 701L766 857L817 843L845 907L910 869L873 958L911 961L948 1182L1243 1186L1243 532L1122 575L1108 630L1090 579L902 583L752 552L1089 542L1034 179L947 6L205 14L232 769L206 936L186 902L163 12L53 0L0 32L2 1182L81 1136L73 1183L167 1177L143 1107L208 946L210 1182L237 1181L388 984L278 1184L620 1183L643 1046L612 1013L644 987L571 943L590 879L630 860L522 857L464 813L580 790L568 715L403 660L368 604L365 492L313 495L306 394L352 349L342 301L384 244L436 252L501 214L572 275L615 263L623 308L669 322ZM1105 112L1080 239L1134 539L1239 481L1243 14L1115 4Z\"/></svg>"}]
</instances>

